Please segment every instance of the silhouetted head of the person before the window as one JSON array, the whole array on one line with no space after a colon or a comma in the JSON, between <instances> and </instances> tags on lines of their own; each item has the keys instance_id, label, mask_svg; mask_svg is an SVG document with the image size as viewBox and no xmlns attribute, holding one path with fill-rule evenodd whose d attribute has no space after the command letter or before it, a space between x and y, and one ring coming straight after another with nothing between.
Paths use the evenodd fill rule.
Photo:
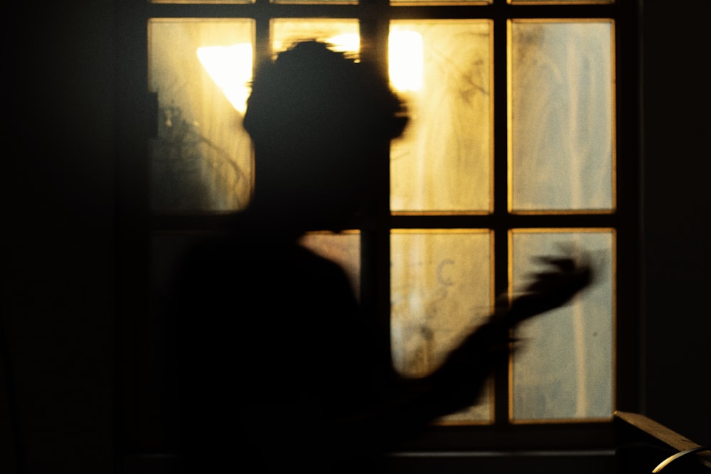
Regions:
<instances>
[{"instance_id":1,"label":"silhouetted head of the person before the window","mask_svg":"<svg viewBox=\"0 0 711 474\"><path fill-rule=\"evenodd\" d=\"M255 144L255 203L347 217L406 122L383 75L325 43L297 43L252 81L244 126Z\"/></svg>"}]
</instances>

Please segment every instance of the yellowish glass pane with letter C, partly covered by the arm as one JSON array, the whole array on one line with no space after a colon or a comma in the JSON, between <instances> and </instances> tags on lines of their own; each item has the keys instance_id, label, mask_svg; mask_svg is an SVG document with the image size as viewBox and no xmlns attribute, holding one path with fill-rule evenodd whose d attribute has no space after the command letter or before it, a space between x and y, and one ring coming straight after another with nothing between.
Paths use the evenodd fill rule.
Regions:
<instances>
[{"instance_id":1,"label":"yellowish glass pane with letter C, partly covered by the arm","mask_svg":"<svg viewBox=\"0 0 711 474\"><path fill-rule=\"evenodd\" d=\"M491 234L394 231L391 247L392 357L400 374L422 377L436 369L491 311ZM488 397L447 417L451 421L490 418Z\"/></svg>"}]
</instances>

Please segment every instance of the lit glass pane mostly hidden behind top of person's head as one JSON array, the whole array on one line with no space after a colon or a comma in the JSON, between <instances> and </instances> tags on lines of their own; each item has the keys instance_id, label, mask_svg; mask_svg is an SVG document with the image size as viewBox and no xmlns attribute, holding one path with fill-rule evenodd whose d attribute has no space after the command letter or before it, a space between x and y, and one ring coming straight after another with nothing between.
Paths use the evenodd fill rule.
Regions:
<instances>
[{"instance_id":1,"label":"lit glass pane mostly hidden behind top of person's head","mask_svg":"<svg viewBox=\"0 0 711 474\"><path fill-rule=\"evenodd\" d=\"M343 53L358 53L360 36L355 19L278 19L272 21L272 49L274 53L287 50L299 41L324 41L332 49Z\"/></svg>"}]
</instances>

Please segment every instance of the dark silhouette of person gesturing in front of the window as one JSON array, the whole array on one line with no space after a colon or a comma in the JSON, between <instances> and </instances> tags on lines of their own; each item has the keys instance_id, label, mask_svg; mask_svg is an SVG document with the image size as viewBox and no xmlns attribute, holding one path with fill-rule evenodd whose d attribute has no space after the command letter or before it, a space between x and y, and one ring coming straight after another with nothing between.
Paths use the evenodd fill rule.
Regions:
<instances>
[{"instance_id":1,"label":"dark silhouette of person gesturing in front of the window","mask_svg":"<svg viewBox=\"0 0 711 474\"><path fill-rule=\"evenodd\" d=\"M510 328L589 283L587 266L547 259L527 293L439 369L398 377L344 271L298 240L342 230L363 208L404 112L384 77L323 43L298 43L257 70L244 120L252 202L196 244L178 274L186 472L378 470L397 443L476 402L508 360Z\"/></svg>"}]
</instances>

